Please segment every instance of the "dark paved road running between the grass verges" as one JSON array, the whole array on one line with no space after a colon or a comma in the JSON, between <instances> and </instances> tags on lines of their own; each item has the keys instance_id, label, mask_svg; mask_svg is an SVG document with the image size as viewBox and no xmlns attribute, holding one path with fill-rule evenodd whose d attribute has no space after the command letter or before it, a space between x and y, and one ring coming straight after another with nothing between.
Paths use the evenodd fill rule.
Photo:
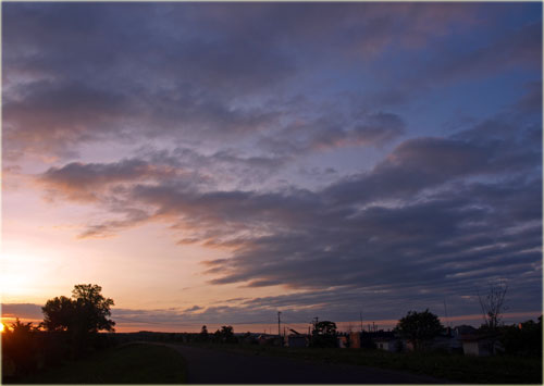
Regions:
<instances>
[{"instance_id":1,"label":"dark paved road running between the grass verges","mask_svg":"<svg viewBox=\"0 0 544 386\"><path fill-rule=\"evenodd\" d=\"M189 384L444 384L423 375L349 364L243 354L168 344L185 358Z\"/></svg>"}]
</instances>

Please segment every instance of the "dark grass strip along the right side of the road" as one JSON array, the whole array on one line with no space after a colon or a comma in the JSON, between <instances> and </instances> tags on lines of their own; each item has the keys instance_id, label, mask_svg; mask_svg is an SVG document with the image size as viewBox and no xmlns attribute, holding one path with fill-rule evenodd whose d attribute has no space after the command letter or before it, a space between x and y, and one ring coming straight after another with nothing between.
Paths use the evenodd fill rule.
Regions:
<instances>
[{"instance_id":1,"label":"dark grass strip along the right side of the road","mask_svg":"<svg viewBox=\"0 0 544 386\"><path fill-rule=\"evenodd\" d=\"M394 353L371 349L295 349L252 345L205 345L203 347L240 353L399 370L468 384L542 385L543 381L542 358L509 356L477 358L445 353Z\"/></svg>"}]
</instances>

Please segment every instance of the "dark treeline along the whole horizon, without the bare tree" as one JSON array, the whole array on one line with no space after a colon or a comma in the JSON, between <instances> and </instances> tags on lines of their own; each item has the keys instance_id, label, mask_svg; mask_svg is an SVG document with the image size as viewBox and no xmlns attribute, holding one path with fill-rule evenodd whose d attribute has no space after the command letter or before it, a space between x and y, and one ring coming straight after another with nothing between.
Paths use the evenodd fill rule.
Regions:
<instances>
[{"instance_id":1,"label":"dark treeline along the whole horizon, without the bare tree","mask_svg":"<svg viewBox=\"0 0 544 386\"><path fill-rule=\"evenodd\" d=\"M115 333L115 323L109 319L111 306L113 300L101 295L101 287L76 285L72 298L61 296L47 301L42 308L44 322L39 325L21 323L17 319L5 326L2 333L2 382L16 383L28 374L133 341L279 347L288 341L290 347L290 338L296 338L293 347L375 349L376 339L404 338L412 343L415 350L429 351L430 343L435 337L452 337L450 328L445 328L429 310L408 312L392 332L361 331L358 333L357 346L350 340L350 334L338 333L336 324L330 321L316 321L310 335L294 332L296 335L289 337L249 332L234 334L230 325L214 333L209 333L206 325L199 333ZM498 313L493 316L493 321L499 320ZM499 343L499 354L542 356L542 316L536 322L527 321L519 325L485 323L475 334L489 337L493 345Z\"/></svg>"}]
</instances>

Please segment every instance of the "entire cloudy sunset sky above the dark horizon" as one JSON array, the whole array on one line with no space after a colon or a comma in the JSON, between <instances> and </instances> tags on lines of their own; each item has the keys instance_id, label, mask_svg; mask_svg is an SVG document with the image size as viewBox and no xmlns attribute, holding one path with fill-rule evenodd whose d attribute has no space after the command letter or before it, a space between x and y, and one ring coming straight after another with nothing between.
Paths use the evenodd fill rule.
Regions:
<instances>
[{"instance_id":1,"label":"entire cloudy sunset sky above the dark horizon","mask_svg":"<svg viewBox=\"0 0 544 386\"><path fill-rule=\"evenodd\" d=\"M542 313L542 3L1 7L4 320Z\"/></svg>"}]
</instances>

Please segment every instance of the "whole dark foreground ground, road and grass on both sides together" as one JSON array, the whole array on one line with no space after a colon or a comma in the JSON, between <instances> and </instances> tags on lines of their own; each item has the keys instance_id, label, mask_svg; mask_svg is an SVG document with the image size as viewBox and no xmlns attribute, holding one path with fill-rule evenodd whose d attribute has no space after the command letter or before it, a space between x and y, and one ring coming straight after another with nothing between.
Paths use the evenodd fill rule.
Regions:
<instances>
[{"instance_id":1,"label":"whole dark foreground ground, road and grass on both sides together","mask_svg":"<svg viewBox=\"0 0 544 386\"><path fill-rule=\"evenodd\" d=\"M16 379L2 375L3 384L542 385L542 357L134 341Z\"/></svg>"}]
</instances>

